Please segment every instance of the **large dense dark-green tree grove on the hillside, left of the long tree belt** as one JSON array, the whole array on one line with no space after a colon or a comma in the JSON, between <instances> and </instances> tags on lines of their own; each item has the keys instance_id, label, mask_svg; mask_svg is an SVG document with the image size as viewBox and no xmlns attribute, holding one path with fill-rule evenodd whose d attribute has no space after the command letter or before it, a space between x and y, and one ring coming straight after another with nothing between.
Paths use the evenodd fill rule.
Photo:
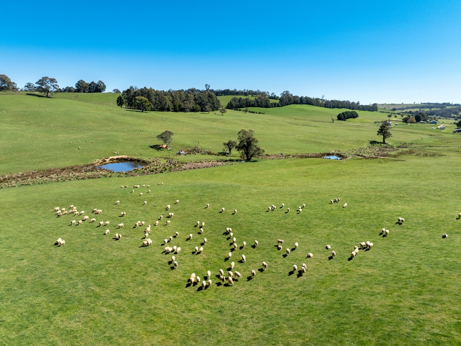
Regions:
<instances>
[{"instance_id":1,"label":"large dense dark-green tree grove on the hillside, left of the long tree belt","mask_svg":"<svg viewBox=\"0 0 461 346\"><path fill-rule=\"evenodd\" d=\"M161 91L146 87L141 89L129 87L124 90L117 98L117 105L137 109L135 100L138 96L145 97L152 105L153 111L209 112L216 111L221 106L216 95L208 90Z\"/></svg>"}]
</instances>

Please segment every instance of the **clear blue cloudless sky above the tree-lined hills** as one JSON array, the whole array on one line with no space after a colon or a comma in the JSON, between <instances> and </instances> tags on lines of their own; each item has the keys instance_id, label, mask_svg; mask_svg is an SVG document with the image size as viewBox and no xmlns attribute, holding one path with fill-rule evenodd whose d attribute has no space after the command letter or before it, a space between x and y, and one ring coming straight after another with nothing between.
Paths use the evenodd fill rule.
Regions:
<instances>
[{"instance_id":1,"label":"clear blue cloudless sky above the tree-lined hills","mask_svg":"<svg viewBox=\"0 0 461 346\"><path fill-rule=\"evenodd\" d=\"M0 74L18 87L284 90L461 103L461 1L0 0Z\"/></svg>"}]
</instances>

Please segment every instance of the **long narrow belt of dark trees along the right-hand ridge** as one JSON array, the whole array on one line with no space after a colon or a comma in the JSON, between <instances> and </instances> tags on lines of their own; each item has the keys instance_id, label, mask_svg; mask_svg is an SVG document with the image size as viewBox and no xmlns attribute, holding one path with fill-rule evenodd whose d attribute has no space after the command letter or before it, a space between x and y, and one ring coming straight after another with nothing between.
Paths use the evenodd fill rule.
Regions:
<instances>
[{"instance_id":1,"label":"long narrow belt of dark trees along the right-hand ridge","mask_svg":"<svg viewBox=\"0 0 461 346\"><path fill-rule=\"evenodd\" d=\"M272 98L272 97L271 97ZM271 103L269 96L266 94L257 95L255 98L232 97L227 104L228 109L239 109L246 107L283 107L288 105L311 105L325 108L346 108L357 111L370 111L377 112L378 105L361 105L359 102L339 101L339 100L325 100L323 98L313 98L308 96L292 95L289 91L284 91L279 97L278 103Z\"/></svg>"}]
</instances>

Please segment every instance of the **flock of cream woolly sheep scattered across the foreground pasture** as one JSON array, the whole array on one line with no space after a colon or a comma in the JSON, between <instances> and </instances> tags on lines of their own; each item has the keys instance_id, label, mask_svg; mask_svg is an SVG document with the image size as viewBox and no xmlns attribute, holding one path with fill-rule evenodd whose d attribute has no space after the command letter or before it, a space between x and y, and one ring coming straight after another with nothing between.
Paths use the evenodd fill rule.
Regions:
<instances>
[{"instance_id":1,"label":"flock of cream woolly sheep scattered across the foreground pasture","mask_svg":"<svg viewBox=\"0 0 461 346\"><path fill-rule=\"evenodd\" d=\"M158 185L163 185L163 183L158 183ZM120 187L121 188L127 188L127 186L120 186ZM149 188L150 186L149 185L143 185L143 187L144 188ZM134 189L137 189L137 188L140 188L140 185L135 185L134 186ZM149 192L150 192L150 190L149 190ZM139 196L142 196L142 195L143 195L142 193L139 194ZM334 203L338 203L339 201L340 201L340 198L335 198L334 200L333 199L330 200L330 203L334 204ZM146 204L147 204L147 201L144 201L144 205L146 205ZM178 205L178 204L179 204L179 199L175 200L175 202L174 202L174 205ZM114 205L117 205L117 206L120 205L120 200L115 201ZM299 206L298 209L297 209L298 213L301 213L304 207L305 207L305 203L302 204L302 207ZM347 203L344 203L343 208L346 208L346 207L347 207ZM210 208L209 203L206 203L205 209L209 209L209 208ZM170 209L171 209L171 205L166 205L165 211L169 211ZM284 209L284 203L281 203L281 206L279 207L279 209ZM268 207L269 212L275 211L275 210L277 210L277 207L275 205L271 205L271 206ZM78 215L78 216L81 216L81 215L85 214L84 211L78 211L78 209L73 205L71 205L68 210L66 210L65 208L56 207L56 208L54 208L54 211L56 212L56 215L58 217L61 217L61 216L64 216L64 215ZM290 208L287 208L286 213L288 213L289 211L290 211ZM92 213L95 214L95 215L100 215L100 214L102 214L102 210L95 208L95 209L93 209ZM221 214L221 213L225 213L225 208L224 207L219 209L219 214ZM237 213L237 210L234 209L232 215L235 215L236 213ZM125 217L125 216L126 216L125 211L120 212L119 217ZM168 216L167 216L168 220L166 220L166 224L164 226L168 226L168 225L171 224L171 218L173 218L173 216L174 216L173 212L168 213ZM459 215L458 215L458 219L459 218L461 218L461 213L459 213ZM158 217L158 220L156 220L155 223L153 223L153 225L158 226L159 225L159 220L162 220L162 219L163 219L163 215L160 215ZM72 220L71 221L71 226L80 226L80 225L83 224L83 222L88 221L88 220L90 220L90 217L87 216L87 215L84 215L79 220ZM399 217L397 219L396 224L402 225L404 223L404 221L405 221L404 218ZM96 218L93 217L88 222L90 222L90 223L95 222L96 223ZM103 226L108 227L109 225L110 225L110 221L99 221L99 226L97 226L97 227L103 227ZM143 226L145 226L145 221L137 221L135 223L135 225L133 226L133 228L138 228L138 227L143 227ZM117 224L117 229L121 229L123 227L124 227L123 223L118 223ZM205 232L204 231L204 227L205 227L205 222L204 221L202 221L202 222L200 220L196 221L196 223L195 223L195 225L193 227L197 227L200 230L198 232L198 234L203 234ZM143 235L144 235L143 239L144 240L142 240L141 247L150 247L150 246L152 246L153 241L149 237L149 234L151 233L151 225L150 224L147 225L147 227L145 227L143 232L144 232L143 233ZM110 233L110 230L106 229L103 234L107 235L109 233ZM388 236L389 235L389 230L386 229L386 228L383 228L381 230L380 235L382 235L383 237ZM234 232L232 231L232 228L227 227L226 230L223 232L223 236L227 237L226 240L230 240L230 243L229 243L230 248L228 250L226 250L227 254L224 257L224 261L231 260L233 255L236 254L237 250L242 251L244 249L248 249L246 241L240 241L239 243L241 245L240 246L238 245L236 236L235 236ZM444 233L442 237L446 238L446 237L448 237L448 235L446 233ZM115 240L120 240L121 238L122 238L122 234L116 233ZM185 241L187 241L187 242L192 241L192 238L193 238L193 234L189 233L186 236ZM178 245L174 245L174 246L171 246L171 245L172 245L172 242L175 242L175 241L178 241L178 240L179 240L179 232L175 232L173 235L170 235L169 237L165 238L163 240L163 242L162 242L163 253L165 253L165 254L173 254L171 256L171 260L168 261L168 264L172 264L171 269L173 269L173 270L176 270L179 267L179 254L181 253L181 247L179 247ZM201 238L201 240L199 240L200 245L193 247L192 248L193 250L191 251L191 253L193 255L200 255L200 254L204 253L205 246L207 245L207 240L208 239L206 237ZM274 247L276 247L277 250L281 250L282 246L284 244L284 240L283 239L276 239L276 242L277 242L277 244L274 245ZM55 241L55 245L57 245L59 247L63 246L64 244L65 244L65 241L62 240L61 238L58 238ZM252 248L252 250L249 250L249 249L246 250L248 252L247 255L250 253L250 256L251 256L252 252L256 251L258 245L259 245L258 240L254 240L253 245L250 247L250 248ZM368 241L368 240L363 241L363 242L359 242L358 246L357 245L354 246L354 250L350 253L349 260L354 259L358 255L359 251L361 251L361 250L369 251L369 250L371 250L371 248L373 246L374 246L374 244L372 242ZM298 242L295 242L293 248L291 248L291 249L286 248L286 254L284 254L283 257L288 257L290 255L290 253L292 251L297 250L298 247L299 247ZM332 247L330 245L326 245L325 249L326 250L331 250ZM336 252L334 250L332 250L331 251L331 256L329 256L328 259L333 259L333 258L335 258L335 256L336 256ZM307 253L306 258L312 258L312 257L314 257L313 253L311 253L311 252ZM240 253L240 255L238 256L238 263L240 263L243 266L243 264L245 264L246 261L247 261L246 255L243 254L243 253ZM216 283L218 286L225 285L226 281L227 281L227 285L225 285L225 286L233 286L234 281L238 281L238 279L242 278L242 273L240 273L237 270L234 271L234 267L235 267L235 262L232 261L230 263L230 268L228 268L227 272L224 271L222 268L219 269L218 271L216 271L215 277L218 278L218 282ZM267 262L262 261L261 267L257 268L257 270L259 272L264 272L267 268L268 268ZM293 264L292 268L293 268L293 270L290 272L290 274L294 274L295 272L298 271L297 264ZM298 272L298 277L303 276L306 273L306 270L307 270L306 264L302 263L302 265L300 267L300 270ZM255 275L256 275L256 270L255 269L251 269L251 270L248 269L248 272L250 273L250 275L248 276L248 280L253 279L255 277ZM206 278L206 280L205 280L205 278ZM208 287L210 287L212 285L212 272L210 270L207 270L206 275L203 276L203 279L204 280L201 281L199 276L197 276L195 273L192 273L190 276L187 277L187 286L198 286L199 290L207 289Z\"/></svg>"}]
</instances>

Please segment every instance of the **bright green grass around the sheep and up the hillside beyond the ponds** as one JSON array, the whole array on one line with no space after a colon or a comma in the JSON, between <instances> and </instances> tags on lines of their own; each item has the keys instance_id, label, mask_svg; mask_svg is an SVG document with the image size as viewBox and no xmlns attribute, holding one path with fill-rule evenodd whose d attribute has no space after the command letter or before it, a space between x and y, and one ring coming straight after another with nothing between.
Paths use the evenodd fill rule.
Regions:
<instances>
[{"instance_id":1,"label":"bright green grass around the sheep and up the hillside beyond the ponds","mask_svg":"<svg viewBox=\"0 0 461 346\"><path fill-rule=\"evenodd\" d=\"M72 96L0 94L1 174L87 163L116 150L165 156L148 148L165 129L174 133L173 152L197 140L221 150L241 128L252 128L268 153L347 153L381 140L374 121L385 117L360 112L354 121L332 123L341 110L294 105L265 115L140 113L114 107L113 94ZM421 125L392 128L388 142L405 148L388 158L257 159L0 189L0 343L459 344L461 137ZM150 187L131 193L143 184ZM337 197L341 202L330 204ZM268 211L272 204L276 210ZM71 226L83 215L56 217L53 208L70 205L97 222ZM93 216L94 208L103 213ZM145 227L133 228L138 220L152 225L151 247L142 247ZM205 222L204 234L197 220ZM98 227L99 221L110 225ZM238 244L228 260L227 227ZM111 233L103 235L105 229ZM163 244L174 232L179 236L168 245L182 248L174 254L178 269ZM54 245L59 237L65 246ZM204 237L204 252L195 254ZM366 240L374 247L349 260ZM295 242L299 248L284 256ZM243 277L218 285L218 270L232 261ZM307 273L293 273L293 264L299 270L302 263ZM207 270L211 287L188 285L191 273L202 280Z\"/></svg>"}]
</instances>

